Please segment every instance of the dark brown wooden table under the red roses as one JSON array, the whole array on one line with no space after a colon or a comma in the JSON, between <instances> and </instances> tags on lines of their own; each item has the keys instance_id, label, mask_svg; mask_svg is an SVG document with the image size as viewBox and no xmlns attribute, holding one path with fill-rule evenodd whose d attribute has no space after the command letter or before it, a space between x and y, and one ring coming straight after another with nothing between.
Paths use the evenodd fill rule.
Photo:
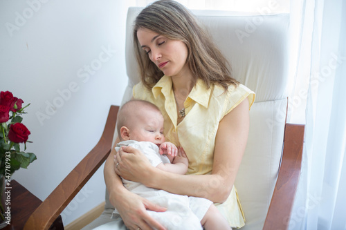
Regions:
<instances>
[{"instance_id":1,"label":"dark brown wooden table under the red roses","mask_svg":"<svg viewBox=\"0 0 346 230\"><path fill-rule=\"evenodd\" d=\"M3 228L3 230L21 230L24 228L26 220L39 207L42 201L15 180L11 180L10 188L11 224ZM50 229L64 230L60 215L53 222Z\"/></svg>"}]
</instances>

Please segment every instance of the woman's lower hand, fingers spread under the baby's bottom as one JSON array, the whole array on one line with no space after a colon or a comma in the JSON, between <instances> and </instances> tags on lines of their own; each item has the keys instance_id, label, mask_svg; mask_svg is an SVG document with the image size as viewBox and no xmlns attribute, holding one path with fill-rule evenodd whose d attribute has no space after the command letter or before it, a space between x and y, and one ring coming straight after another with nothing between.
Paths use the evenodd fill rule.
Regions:
<instances>
[{"instance_id":1,"label":"woman's lower hand, fingers spread under the baby's bottom","mask_svg":"<svg viewBox=\"0 0 346 230\"><path fill-rule=\"evenodd\" d=\"M128 191L122 195L121 199L117 200L115 207L128 229L165 229L147 213L147 209L158 212L166 211L167 209L159 207L157 204L153 204L139 195Z\"/></svg>"}]
</instances>

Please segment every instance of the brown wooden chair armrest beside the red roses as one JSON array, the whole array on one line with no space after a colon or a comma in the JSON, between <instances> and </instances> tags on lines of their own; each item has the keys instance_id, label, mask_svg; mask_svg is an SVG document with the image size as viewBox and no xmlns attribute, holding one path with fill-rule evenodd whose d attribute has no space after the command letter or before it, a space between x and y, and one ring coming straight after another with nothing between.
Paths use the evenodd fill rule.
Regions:
<instances>
[{"instance_id":1,"label":"brown wooden chair armrest beside the red roses","mask_svg":"<svg viewBox=\"0 0 346 230\"><path fill-rule=\"evenodd\" d=\"M82 189L93 173L111 152L119 106L111 106L102 136L96 146L75 166L75 169L48 195L48 198L30 215L24 229L49 229L54 220Z\"/></svg>"}]
</instances>

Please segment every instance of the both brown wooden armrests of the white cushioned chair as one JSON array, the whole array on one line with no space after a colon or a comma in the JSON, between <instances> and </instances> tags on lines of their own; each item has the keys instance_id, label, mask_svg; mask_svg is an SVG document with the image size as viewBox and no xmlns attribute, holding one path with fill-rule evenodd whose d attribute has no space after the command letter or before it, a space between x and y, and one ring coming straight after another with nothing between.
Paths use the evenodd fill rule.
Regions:
<instances>
[{"instance_id":1,"label":"both brown wooden armrests of the white cushioned chair","mask_svg":"<svg viewBox=\"0 0 346 230\"><path fill-rule=\"evenodd\" d=\"M111 106L100 141L75 169L48 195L26 222L24 229L49 229L54 220L98 170L111 152L119 106ZM264 229L287 229L300 175L304 125L286 124L279 175Z\"/></svg>"}]
</instances>

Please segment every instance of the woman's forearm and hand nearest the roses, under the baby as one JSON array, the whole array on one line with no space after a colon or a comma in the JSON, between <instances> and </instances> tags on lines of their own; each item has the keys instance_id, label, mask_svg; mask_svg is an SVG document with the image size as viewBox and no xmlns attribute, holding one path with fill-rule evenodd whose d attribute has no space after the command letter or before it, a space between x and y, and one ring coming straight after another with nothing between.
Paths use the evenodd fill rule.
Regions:
<instances>
[{"instance_id":1,"label":"woman's forearm and hand nearest the roses, under the baby","mask_svg":"<svg viewBox=\"0 0 346 230\"><path fill-rule=\"evenodd\" d=\"M116 143L118 142L119 140L117 138ZM152 227L165 229L147 213L146 209L152 211L165 211L166 209L131 193L122 185L122 180L114 171L115 146L116 144L114 144L104 164L104 181L106 182L109 193L109 201L116 207L122 220L129 229L138 229L138 227L140 229L152 229Z\"/></svg>"}]
</instances>

